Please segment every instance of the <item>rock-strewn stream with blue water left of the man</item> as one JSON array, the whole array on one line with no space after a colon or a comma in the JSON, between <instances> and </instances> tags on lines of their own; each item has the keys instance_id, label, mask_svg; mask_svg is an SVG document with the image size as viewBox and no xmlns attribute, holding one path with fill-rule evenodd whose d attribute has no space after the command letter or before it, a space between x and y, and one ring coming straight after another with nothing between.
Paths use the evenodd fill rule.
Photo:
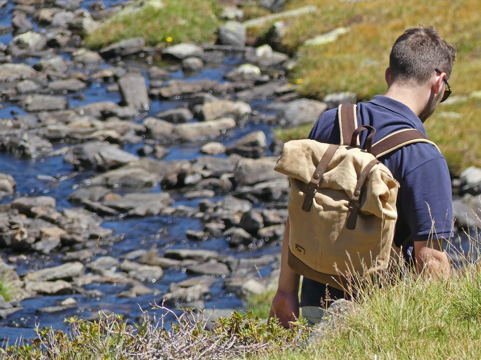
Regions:
<instances>
[{"instance_id":1,"label":"rock-strewn stream with blue water left of the man","mask_svg":"<svg viewBox=\"0 0 481 360\"><path fill-rule=\"evenodd\" d=\"M99 310L136 321L154 300L222 314L278 275L272 128L328 106L269 46L84 48L127 3L0 2L2 339Z\"/></svg>"}]
</instances>

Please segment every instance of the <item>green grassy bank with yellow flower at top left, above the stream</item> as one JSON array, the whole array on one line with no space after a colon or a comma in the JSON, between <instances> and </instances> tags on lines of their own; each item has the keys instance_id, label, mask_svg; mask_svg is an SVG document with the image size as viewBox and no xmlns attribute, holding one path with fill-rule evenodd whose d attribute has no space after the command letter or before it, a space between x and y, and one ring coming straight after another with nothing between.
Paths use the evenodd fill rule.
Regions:
<instances>
[{"instance_id":1,"label":"green grassy bank with yellow flower at top left, above the stream","mask_svg":"<svg viewBox=\"0 0 481 360\"><path fill-rule=\"evenodd\" d=\"M153 1L146 1L136 11L124 9L105 21L87 37L87 46L101 48L137 36L151 46L215 40L219 9L214 1L164 0L162 8L153 5Z\"/></svg>"}]
</instances>

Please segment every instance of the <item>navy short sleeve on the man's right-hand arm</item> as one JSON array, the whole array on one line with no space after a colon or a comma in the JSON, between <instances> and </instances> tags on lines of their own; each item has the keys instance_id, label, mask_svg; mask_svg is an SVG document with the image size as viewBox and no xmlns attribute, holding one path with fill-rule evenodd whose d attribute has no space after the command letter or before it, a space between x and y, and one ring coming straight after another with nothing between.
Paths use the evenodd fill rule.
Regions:
<instances>
[{"instance_id":1,"label":"navy short sleeve on the man's right-hand arm","mask_svg":"<svg viewBox=\"0 0 481 360\"><path fill-rule=\"evenodd\" d=\"M446 160L435 157L419 165L405 175L401 186L402 211L413 240L451 238L453 202Z\"/></svg>"}]
</instances>

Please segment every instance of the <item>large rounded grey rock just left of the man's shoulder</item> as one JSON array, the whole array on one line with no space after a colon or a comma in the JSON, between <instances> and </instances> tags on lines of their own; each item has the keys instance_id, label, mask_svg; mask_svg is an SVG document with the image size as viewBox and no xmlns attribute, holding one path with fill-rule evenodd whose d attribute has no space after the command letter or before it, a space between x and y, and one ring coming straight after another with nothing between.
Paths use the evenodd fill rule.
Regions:
<instances>
[{"instance_id":1,"label":"large rounded grey rock just left of the man's shoulder","mask_svg":"<svg viewBox=\"0 0 481 360\"><path fill-rule=\"evenodd\" d=\"M320 101L298 99L286 104L279 115L278 123L285 127L315 122L328 106Z\"/></svg>"}]
</instances>

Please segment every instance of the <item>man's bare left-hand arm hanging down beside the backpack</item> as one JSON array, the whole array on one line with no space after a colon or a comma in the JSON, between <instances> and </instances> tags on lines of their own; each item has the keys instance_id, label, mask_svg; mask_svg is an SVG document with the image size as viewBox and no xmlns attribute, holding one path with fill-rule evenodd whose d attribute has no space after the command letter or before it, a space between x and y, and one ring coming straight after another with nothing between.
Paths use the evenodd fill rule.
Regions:
<instances>
[{"instance_id":1,"label":"man's bare left-hand arm hanging down beside the backpack","mask_svg":"<svg viewBox=\"0 0 481 360\"><path fill-rule=\"evenodd\" d=\"M284 240L280 261L280 276L276 296L272 300L270 318L278 318L284 327L290 327L289 322L299 317L299 274L291 270L287 264L289 253L289 218L286 221Z\"/></svg>"}]
</instances>

